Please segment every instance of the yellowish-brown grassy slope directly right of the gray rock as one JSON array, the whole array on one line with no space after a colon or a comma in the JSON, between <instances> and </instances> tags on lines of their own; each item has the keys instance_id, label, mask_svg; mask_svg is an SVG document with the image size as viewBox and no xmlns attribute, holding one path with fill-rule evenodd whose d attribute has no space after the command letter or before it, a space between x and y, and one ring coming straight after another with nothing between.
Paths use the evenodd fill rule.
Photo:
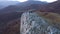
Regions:
<instances>
[{"instance_id":1,"label":"yellowish-brown grassy slope directly right of the gray rock","mask_svg":"<svg viewBox=\"0 0 60 34\"><path fill-rule=\"evenodd\" d=\"M48 21L51 25L54 25L57 28L60 28L60 14L52 12L37 12L45 20Z\"/></svg>"}]
</instances>

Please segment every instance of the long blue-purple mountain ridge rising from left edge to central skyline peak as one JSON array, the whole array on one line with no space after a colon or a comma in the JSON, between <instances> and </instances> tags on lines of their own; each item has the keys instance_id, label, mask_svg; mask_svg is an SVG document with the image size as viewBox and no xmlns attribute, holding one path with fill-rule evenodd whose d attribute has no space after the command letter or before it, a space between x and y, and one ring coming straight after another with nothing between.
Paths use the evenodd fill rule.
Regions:
<instances>
[{"instance_id":1,"label":"long blue-purple mountain ridge rising from left edge to central skyline peak","mask_svg":"<svg viewBox=\"0 0 60 34\"><path fill-rule=\"evenodd\" d=\"M48 4L48 3L40 2L40 1L27 1L23 3L18 3L17 5L10 5L4 9L1 9L0 14L6 13L6 12L25 11L28 9L37 9L39 6L43 6L45 4Z\"/></svg>"}]
</instances>

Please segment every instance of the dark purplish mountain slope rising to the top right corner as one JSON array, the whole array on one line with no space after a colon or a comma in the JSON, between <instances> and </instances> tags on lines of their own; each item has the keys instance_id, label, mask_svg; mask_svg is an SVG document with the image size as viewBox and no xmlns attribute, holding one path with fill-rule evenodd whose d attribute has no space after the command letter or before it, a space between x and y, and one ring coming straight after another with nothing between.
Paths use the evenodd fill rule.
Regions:
<instances>
[{"instance_id":1,"label":"dark purplish mountain slope rising to the top right corner","mask_svg":"<svg viewBox=\"0 0 60 34\"><path fill-rule=\"evenodd\" d=\"M45 11L47 11L47 12L54 12L54 13L60 14L60 1L50 3L47 6L45 6L44 8L45 8Z\"/></svg>"}]
</instances>

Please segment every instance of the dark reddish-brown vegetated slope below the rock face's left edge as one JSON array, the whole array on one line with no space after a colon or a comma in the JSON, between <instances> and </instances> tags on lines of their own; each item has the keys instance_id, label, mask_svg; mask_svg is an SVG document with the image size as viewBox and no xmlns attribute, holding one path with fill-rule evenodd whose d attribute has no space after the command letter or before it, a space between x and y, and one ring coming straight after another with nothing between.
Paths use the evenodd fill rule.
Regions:
<instances>
[{"instance_id":1,"label":"dark reddish-brown vegetated slope below the rock face's left edge","mask_svg":"<svg viewBox=\"0 0 60 34\"><path fill-rule=\"evenodd\" d=\"M20 34L20 19L10 21L2 34Z\"/></svg>"}]
</instances>

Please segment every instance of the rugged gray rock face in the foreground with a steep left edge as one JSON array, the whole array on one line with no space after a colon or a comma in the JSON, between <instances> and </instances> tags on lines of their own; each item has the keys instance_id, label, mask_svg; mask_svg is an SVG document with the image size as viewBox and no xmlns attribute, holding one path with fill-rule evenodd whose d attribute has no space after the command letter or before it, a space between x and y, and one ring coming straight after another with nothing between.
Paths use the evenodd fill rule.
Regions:
<instances>
[{"instance_id":1,"label":"rugged gray rock face in the foreground with a steep left edge","mask_svg":"<svg viewBox=\"0 0 60 34\"><path fill-rule=\"evenodd\" d=\"M25 12L21 16L21 34L60 34L60 30L49 25L35 12Z\"/></svg>"}]
</instances>

